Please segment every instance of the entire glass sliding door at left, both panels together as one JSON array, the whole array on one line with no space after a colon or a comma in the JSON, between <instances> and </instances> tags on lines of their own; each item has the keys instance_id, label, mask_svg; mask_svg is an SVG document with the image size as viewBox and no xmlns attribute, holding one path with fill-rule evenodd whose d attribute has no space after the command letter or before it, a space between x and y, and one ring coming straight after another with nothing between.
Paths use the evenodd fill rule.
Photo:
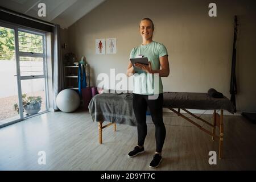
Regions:
<instances>
[{"instance_id":1,"label":"entire glass sliding door at left, both panels together","mask_svg":"<svg viewBox=\"0 0 256 182\"><path fill-rule=\"evenodd\" d=\"M45 42L43 32L0 24L0 127L48 110Z\"/></svg>"}]
</instances>

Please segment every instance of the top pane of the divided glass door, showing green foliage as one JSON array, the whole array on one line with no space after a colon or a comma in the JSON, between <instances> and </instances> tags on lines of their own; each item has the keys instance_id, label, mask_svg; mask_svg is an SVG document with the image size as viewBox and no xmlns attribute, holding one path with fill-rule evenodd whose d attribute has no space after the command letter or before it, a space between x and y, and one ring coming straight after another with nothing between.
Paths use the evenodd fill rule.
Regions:
<instances>
[{"instance_id":1,"label":"top pane of the divided glass door, showing green foliage","mask_svg":"<svg viewBox=\"0 0 256 182\"><path fill-rule=\"evenodd\" d=\"M19 35L19 51L43 53L43 36L30 34L27 32L18 32Z\"/></svg>"}]
</instances>

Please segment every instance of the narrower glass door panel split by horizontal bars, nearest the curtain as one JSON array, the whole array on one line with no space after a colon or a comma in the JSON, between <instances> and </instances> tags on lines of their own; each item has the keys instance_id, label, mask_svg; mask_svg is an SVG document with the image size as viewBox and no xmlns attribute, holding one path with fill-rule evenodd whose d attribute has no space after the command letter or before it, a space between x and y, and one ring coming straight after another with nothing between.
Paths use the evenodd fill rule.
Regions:
<instances>
[{"instance_id":1,"label":"narrower glass door panel split by horizontal bars, nearest the curtain","mask_svg":"<svg viewBox=\"0 0 256 182\"><path fill-rule=\"evenodd\" d=\"M46 111L45 35L18 29L18 61L23 117Z\"/></svg>"}]
</instances>

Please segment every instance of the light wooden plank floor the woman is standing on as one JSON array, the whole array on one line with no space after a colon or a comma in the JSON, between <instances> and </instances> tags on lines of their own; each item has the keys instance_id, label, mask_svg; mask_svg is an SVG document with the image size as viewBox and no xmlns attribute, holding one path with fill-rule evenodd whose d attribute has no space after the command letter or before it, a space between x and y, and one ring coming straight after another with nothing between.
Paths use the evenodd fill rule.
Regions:
<instances>
[{"instance_id":1,"label":"light wooden plank floor the woman is standing on","mask_svg":"<svg viewBox=\"0 0 256 182\"><path fill-rule=\"evenodd\" d=\"M203 115L210 120L212 115ZM117 125L103 130L88 111L46 113L0 129L1 170L247 170L256 169L256 125L241 116L224 116L224 159L208 163L218 142L174 113L164 113L166 142L159 168L148 168L155 151L155 127L148 117L146 152L127 153L137 144L137 127ZM39 151L46 165L39 165Z\"/></svg>"}]
</instances>

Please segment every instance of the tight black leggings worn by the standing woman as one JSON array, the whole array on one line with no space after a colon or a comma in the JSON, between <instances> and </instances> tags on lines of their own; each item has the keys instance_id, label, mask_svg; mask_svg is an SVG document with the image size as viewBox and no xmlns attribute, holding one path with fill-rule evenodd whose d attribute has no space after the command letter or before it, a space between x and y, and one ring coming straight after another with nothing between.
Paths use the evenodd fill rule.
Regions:
<instances>
[{"instance_id":1,"label":"tight black leggings worn by the standing woman","mask_svg":"<svg viewBox=\"0 0 256 182\"><path fill-rule=\"evenodd\" d=\"M166 127L163 123L163 93L156 100L148 99L147 95L133 94L133 110L137 120L138 146L143 146L147 135L146 112L150 109L155 124L156 152L162 152Z\"/></svg>"}]
</instances>

